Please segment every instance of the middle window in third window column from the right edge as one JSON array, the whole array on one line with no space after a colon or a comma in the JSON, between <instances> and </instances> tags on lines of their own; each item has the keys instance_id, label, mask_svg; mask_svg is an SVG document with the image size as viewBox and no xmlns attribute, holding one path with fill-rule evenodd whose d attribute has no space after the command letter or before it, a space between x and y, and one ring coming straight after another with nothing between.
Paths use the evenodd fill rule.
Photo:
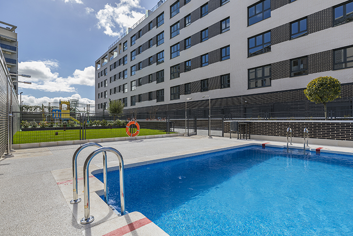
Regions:
<instances>
[{"instance_id":1,"label":"middle window in third window column from the right edge","mask_svg":"<svg viewBox=\"0 0 353 236\"><path fill-rule=\"evenodd\" d=\"M249 57L271 51L271 32L257 35L248 39Z\"/></svg>"}]
</instances>

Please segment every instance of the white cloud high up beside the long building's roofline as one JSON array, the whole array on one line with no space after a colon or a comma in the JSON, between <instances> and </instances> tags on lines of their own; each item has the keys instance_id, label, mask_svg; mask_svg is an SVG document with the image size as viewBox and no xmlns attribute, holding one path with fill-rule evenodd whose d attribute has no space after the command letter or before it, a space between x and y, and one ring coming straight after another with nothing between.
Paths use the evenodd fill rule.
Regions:
<instances>
[{"instance_id":1,"label":"white cloud high up beside the long building's roofline","mask_svg":"<svg viewBox=\"0 0 353 236\"><path fill-rule=\"evenodd\" d=\"M98 28L104 28L104 33L109 36L118 36L131 27L145 14L136 11L143 9L140 0L121 0L117 6L106 4L104 9L97 12ZM114 30L118 27L118 30Z\"/></svg>"}]
</instances>

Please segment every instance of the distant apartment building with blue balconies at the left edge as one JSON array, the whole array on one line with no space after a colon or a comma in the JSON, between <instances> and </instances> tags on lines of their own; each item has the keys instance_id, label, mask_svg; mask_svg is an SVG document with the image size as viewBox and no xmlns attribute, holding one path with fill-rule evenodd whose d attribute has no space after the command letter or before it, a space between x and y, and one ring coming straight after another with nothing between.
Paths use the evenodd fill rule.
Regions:
<instances>
[{"instance_id":1,"label":"distant apartment building with blue balconies at the left edge","mask_svg":"<svg viewBox=\"0 0 353 236\"><path fill-rule=\"evenodd\" d=\"M7 70L10 73L18 74L18 41L15 29L17 26L0 21L0 48L5 58ZM11 76L12 81L17 80ZM13 86L18 91L17 82Z\"/></svg>"}]
</instances>

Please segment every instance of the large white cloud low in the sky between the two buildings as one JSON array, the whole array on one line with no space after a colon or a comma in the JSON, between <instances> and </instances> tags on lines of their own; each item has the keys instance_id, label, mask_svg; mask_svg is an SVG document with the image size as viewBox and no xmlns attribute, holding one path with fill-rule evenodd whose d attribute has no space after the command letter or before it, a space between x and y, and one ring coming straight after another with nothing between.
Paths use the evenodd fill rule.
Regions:
<instances>
[{"instance_id":1,"label":"large white cloud low in the sky between the two buildings","mask_svg":"<svg viewBox=\"0 0 353 236\"><path fill-rule=\"evenodd\" d=\"M72 76L62 78L52 69L59 68L56 61L30 61L18 64L19 74L30 75L26 81L32 84L19 83L19 87L37 89L48 92L75 92L73 84L94 86L94 67L86 67L83 71L75 70Z\"/></svg>"}]
</instances>

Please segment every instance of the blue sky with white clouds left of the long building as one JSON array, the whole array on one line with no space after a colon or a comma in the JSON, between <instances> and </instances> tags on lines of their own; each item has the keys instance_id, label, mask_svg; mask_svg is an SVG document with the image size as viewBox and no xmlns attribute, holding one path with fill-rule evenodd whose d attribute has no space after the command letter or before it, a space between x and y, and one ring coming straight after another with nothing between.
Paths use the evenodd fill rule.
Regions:
<instances>
[{"instance_id":1,"label":"blue sky with white clouds left of the long building","mask_svg":"<svg viewBox=\"0 0 353 236\"><path fill-rule=\"evenodd\" d=\"M17 26L23 104L94 104L94 63L158 0L3 0L0 21ZM4 10L9 9L9 10Z\"/></svg>"}]
</instances>

